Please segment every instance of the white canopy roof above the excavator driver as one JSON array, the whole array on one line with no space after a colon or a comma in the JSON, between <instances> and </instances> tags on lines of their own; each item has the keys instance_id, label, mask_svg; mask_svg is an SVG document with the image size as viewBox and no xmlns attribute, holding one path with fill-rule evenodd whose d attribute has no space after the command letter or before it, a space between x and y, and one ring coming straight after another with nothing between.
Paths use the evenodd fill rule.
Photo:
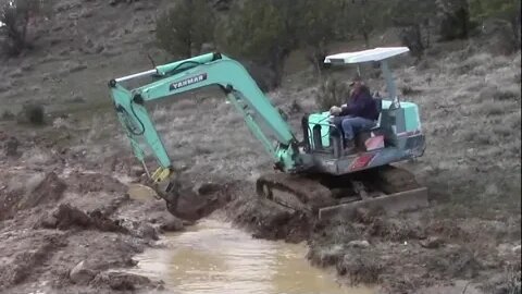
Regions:
<instances>
[{"instance_id":1,"label":"white canopy roof above the excavator driver","mask_svg":"<svg viewBox=\"0 0 522 294\"><path fill-rule=\"evenodd\" d=\"M362 63L370 61L381 61L387 58L402 54L410 51L408 47L377 47L374 49L357 51L357 52L344 52L327 56L324 59L324 63L340 63L340 64L350 64L350 63Z\"/></svg>"}]
</instances>

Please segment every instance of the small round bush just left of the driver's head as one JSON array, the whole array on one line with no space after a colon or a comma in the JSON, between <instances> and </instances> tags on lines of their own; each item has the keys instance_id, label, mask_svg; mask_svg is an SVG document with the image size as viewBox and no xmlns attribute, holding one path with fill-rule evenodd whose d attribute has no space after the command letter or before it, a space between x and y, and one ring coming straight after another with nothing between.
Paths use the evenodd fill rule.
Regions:
<instances>
[{"instance_id":1,"label":"small round bush just left of the driver's head","mask_svg":"<svg viewBox=\"0 0 522 294\"><path fill-rule=\"evenodd\" d=\"M335 78L328 78L319 86L315 103L322 111L330 110L332 106L341 106L350 94L347 84Z\"/></svg>"}]
</instances>

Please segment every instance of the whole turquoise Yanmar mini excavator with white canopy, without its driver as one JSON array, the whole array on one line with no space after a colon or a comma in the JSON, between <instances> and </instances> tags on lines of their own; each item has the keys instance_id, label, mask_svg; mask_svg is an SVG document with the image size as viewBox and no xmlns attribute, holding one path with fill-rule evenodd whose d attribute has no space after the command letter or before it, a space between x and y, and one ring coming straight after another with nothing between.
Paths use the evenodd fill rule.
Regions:
<instances>
[{"instance_id":1,"label":"whole turquoise Yanmar mini excavator with white canopy, without its driver","mask_svg":"<svg viewBox=\"0 0 522 294\"><path fill-rule=\"evenodd\" d=\"M302 115L302 136L298 139L246 68L220 52L154 65L146 72L111 79L109 88L117 118L135 157L145 167L149 184L165 200L166 209L179 219L208 216L212 200L182 192L181 171L172 164L146 106L210 86L224 93L273 159L274 170L256 181L256 193L263 200L320 220L348 216L361 207L400 212L428 205L426 187L396 164L421 157L425 149L419 107L399 99L388 64L390 58L408 51L406 47L378 47L325 58L324 63L330 65L376 64L386 82L386 97L374 97L380 111L375 126L358 133L356 149L349 148L349 152L344 146L343 130L333 123L335 117L330 111ZM139 78L152 82L128 86ZM146 147L156 158L154 172L149 172L145 164Z\"/></svg>"}]
</instances>

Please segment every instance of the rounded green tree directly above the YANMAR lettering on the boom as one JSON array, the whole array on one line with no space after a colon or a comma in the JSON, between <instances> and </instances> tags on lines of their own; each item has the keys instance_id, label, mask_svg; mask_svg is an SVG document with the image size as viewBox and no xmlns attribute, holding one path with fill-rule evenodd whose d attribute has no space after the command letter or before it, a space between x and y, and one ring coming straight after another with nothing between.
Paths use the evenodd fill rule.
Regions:
<instances>
[{"instance_id":1,"label":"rounded green tree directly above the YANMAR lettering on the boom","mask_svg":"<svg viewBox=\"0 0 522 294\"><path fill-rule=\"evenodd\" d=\"M158 46L176 58L198 54L213 41L215 16L206 0L181 0L161 14L156 23Z\"/></svg>"}]
</instances>

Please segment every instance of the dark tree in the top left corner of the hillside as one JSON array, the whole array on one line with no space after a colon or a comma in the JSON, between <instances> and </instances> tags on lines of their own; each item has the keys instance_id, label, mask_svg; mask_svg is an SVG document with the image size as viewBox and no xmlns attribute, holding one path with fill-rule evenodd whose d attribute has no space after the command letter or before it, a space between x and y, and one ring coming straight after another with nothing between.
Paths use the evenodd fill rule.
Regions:
<instances>
[{"instance_id":1,"label":"dark tree in the top left corner of the hillside","mask_svg":"<svg viewBox=\"0 0 522 294\"><path fill-rule=\"evenodd\" d=\"M3 48L9 54L17 56L30 48L27 33L32 21L38 16L48 16L51 1L44 0L0 0L0 34L5 37Z\"/></svg>"}]
</instances>

